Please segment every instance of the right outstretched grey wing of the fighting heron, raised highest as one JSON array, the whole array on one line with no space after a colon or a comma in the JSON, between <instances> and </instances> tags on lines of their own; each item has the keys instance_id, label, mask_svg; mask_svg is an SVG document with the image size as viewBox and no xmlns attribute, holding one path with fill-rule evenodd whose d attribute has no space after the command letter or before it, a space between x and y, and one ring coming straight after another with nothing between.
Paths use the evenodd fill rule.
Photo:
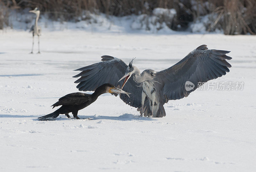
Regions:
<instances>
[{"instance_id":1,"label":"right outstretched grey wing of the fighting heron, raised highest","mask_svg":"<svg viewBox=\"0 0 256 172\"><path fill-rule=\"evenodd\" d=\"M196 90L200 83L216 79L229 72L231 65L226 61L230 51L208 49L201 45L172 67L156 73L155 80L163 91L165 102L182 99ZM185 89L186 81L194 84L192 90ZM199 85L198 85L199 84Z\"/></svg>"}]
</instances>

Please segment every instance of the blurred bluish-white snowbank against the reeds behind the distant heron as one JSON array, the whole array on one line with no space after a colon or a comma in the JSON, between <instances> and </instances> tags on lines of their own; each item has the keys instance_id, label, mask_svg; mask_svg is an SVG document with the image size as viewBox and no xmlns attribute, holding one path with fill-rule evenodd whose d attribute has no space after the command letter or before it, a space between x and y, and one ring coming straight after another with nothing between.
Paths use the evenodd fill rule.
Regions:
<instances>
[{"instance_id":1,"label":"blurred bluish-white snowbank against the reeds behind the distant heron","mask_svg":"<svg viewBox=\"0 0 256 172\"><path fill-rule=\"evenodd\" d=\"M29 9L23 11L10 11L9 23L16 30L29 30L34 25L35 15L28 12ZM158 33L171 34L175 33L167 25L171 26L172 20L177 15L175 9L155 8L152 15L129 15L124 17L116 17L103 13L94 14L84 11L82 17L76 18L75 21L53 21L48 18L47 13L41 13L38 25L45 31L63 31L63 30L83 30L88 32L100 33ZM164 18L164 21L163 21ZM167 23L168 24L167 24Z\"/></svg>"}]
</instances>

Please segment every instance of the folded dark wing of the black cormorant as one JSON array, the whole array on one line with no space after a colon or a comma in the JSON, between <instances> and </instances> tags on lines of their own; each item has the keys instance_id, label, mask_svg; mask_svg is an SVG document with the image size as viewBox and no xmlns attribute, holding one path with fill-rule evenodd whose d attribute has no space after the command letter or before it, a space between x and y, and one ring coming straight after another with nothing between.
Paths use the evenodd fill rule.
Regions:
<instances>
[{"instance_id":1,"label":"folded dark wing of the black cormorant","mask_svg":"<svg viewBox=\"0 0 256 172\"><path fill-rule=\"evenodd\" d=\"M70 93L67 94L59 99L56 103L54 103L52 106L53 108L55 106L60 105L79 105L81 103L87 102L91 100L90 94L85 93Z\"/></svg>"}]
</instances>

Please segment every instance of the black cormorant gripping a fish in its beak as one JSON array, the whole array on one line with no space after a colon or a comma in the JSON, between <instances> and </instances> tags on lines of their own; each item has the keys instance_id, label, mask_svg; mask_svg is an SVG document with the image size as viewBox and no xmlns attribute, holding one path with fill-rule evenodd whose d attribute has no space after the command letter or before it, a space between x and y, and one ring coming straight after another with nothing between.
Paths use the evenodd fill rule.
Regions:
<instances>
[{"instance_id":1,"label":"black cormorant gripping a fish in its beak","mask_svg":"<svg viewBox=\"0 0 256 172\"><path fill-rule=\"evenodd\" d=\"M59 99L59 101L57 101L56 103L54 103L52 105L53 108L56 106L62 105L59 109L55 110L54 112L52 112L48 115L41 116L41 117L39 117L39 119L43 120L46 118L57 118L60 114L65 114L68 118L70 118L70 116L68 115L68 113L70 113L70 112L72 112L74 118L80 119L77 116L78 110L81 110L81 109L89 106L90 104L92 104L103 93L112 93L112 94L113 93L117 93L117 94L124 93L126 95L130 94L130 93L126 93L125 91L123 91L119 88L116 88L112 84L103 84L103 85L99 86L95 90L95 92L92 94L79 93L79 92L78 93L70 93L70 94L67 94L67 95L61 97Z\"/></svg>"}]
</instances>

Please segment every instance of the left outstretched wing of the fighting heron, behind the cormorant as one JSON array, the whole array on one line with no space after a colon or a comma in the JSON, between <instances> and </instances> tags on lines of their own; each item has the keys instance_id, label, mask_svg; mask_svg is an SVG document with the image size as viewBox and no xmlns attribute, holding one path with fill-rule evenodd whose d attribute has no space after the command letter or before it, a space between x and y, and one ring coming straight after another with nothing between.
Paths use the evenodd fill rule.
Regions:
<instances>
[{"instance_id":1,"label":"left outstretched wing of the fighting heron, behind the cormorant","mask_svg":"<svg viewBox=\"0 0 256 172\"><path fill-rule=\"evenodd\" d=\"M79 91L95 91L96 88L105 83L110 83L121 88L121 79L128 67L121 59L112 56L101 56L101 61L89 66L82 67L75 71L82 71L74 78L80 77L75 81L79 83L76 88ZM126 94L121 94L120 98L130 106L135 108L141 105L142 88L137 86L133 79L129 79L123 87L123 90L130 94L130 98ZM117 96L117 94L115 94Z\"/></svg>"}]
</instances>

